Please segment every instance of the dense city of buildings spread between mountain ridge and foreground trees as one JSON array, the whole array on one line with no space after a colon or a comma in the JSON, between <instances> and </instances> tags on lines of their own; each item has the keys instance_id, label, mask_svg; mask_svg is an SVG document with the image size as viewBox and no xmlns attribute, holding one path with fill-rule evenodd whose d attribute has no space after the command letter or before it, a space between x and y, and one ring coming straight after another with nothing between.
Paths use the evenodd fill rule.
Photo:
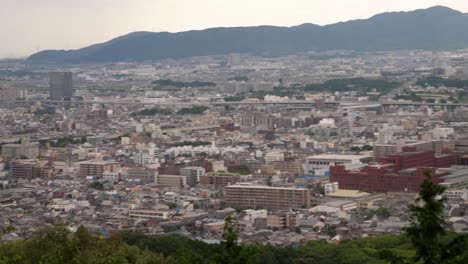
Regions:
<instances>
[{"instance_id":1,"label":"dense city of buildings spread between mountain ridge and foreground trees","mask_svg":"<svg viewBox=\"0 0 468 264\"><path fill-rule=\"evenodd\" d=\"M222 248L235 225L239 245L307 256L304 247L320 254L319 245L404 237L424 222L414 207L429 185L443 188L433 196L443 196L440 215L431 209L441 232L464 239L467 62L468 45L0 60L0 248L57 223L109 243L127 234L140 246L138 234ZM167 241L158 243L176 243ZM150 254L148 245L135 254ZM173 245L173 255L153 251L160 258L147 262L102 263L238 263L208 261L208 252L178 259L182 244ZM375 253L372 262L367 252L354 262L297 253L249 263L466 263L461 252L454 262L419 253L407 253L420 257L410 262ZM2 254L1 263L75 263Z\"/></svg>"}]
</instances>

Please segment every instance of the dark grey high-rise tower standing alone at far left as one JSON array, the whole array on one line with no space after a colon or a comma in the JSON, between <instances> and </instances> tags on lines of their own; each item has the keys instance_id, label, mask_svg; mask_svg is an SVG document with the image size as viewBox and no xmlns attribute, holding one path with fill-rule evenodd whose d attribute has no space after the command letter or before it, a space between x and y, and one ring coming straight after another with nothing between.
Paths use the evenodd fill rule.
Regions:
<instances>
[{"instance_id":1,"label":"dark grey high-rise tower standing alone at far left","mask_svg":"<svg viewBox=\"0 0 468 264\"><path fill-rule=\"evenodd\" d=\"M49 73L49 99L52 101L70 100L73 96L73 74L71 72Z\"/></svg>"}]
</instances>

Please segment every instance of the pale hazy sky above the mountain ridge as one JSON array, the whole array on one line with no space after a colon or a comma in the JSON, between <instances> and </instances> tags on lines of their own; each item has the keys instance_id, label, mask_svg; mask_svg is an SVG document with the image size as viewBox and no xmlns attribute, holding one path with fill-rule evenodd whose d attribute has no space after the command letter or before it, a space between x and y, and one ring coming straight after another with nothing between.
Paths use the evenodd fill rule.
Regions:
<instances>
[{"instance_id":1,"label":"pale hazy sky above the mountain ridge","mask_svg":"<svg viewBox=\"0 0 468 264\"><path fill-rule=\"evenodd\" d=\"M0 57L76 49L133 31L330 24L468 0L0 0Z\"/></svg>"}]
</instances>

